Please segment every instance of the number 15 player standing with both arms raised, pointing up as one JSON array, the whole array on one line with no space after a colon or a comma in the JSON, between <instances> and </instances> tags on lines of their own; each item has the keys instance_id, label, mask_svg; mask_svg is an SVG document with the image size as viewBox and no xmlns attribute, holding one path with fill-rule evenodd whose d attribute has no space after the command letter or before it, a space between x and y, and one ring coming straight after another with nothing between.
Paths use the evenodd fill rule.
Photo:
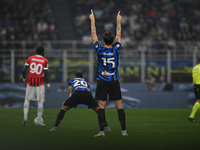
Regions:
<instances>
[{"instance_id":1,"label":"number 15 player standing with both arms raised, pointing up","mask_svg":"<svg viewBox=\"0 0 200 150\"><path fill-rule=\"evenodd\" d=\"M106 99L109 94L109 100L114 101L115 107L118 111L118 118L121 124L122 136L128 136L126 132L125 112L122 104L122 95L119 83L119 54L121 48L121 20L122 16L120 11L117 14L117 29L115 44L112 46L114 36L111 32L105 32L103 36L104 46L101 46L98 42L95 17L93 10L89 16L91 20L91 35L93 39L94 49L97 55L97 88L95 99L98 100L99 105L99 126L100 132L95 137L105 136L104 124L105 124L105 108Z\"/></svg>"}]
</instances>

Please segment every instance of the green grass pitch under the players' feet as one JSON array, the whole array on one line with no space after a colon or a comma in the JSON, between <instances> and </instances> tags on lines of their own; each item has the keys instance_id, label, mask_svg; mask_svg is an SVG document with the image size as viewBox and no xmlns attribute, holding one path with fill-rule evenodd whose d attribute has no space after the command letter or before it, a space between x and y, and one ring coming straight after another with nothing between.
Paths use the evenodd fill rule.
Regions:
<instances>
[{"instance_id":1,"label":"green grass pitch under the players' feet","mask_svg":"<svg viewBox=\"0 0 200 150\"><path fill-rule=\"evenodd\" d=\"M59 109L44 109L46 126L35 126L36 109L29 110L22 126L22 109L0 109L1 150L193 150L200 149L199 122L187 120L190 109L126 109L127 131L122 137L115 109L106 110L112 129L105 137L98 133L97 115L91 109L71 109L57 132L53 127Z\"/></svg>"}]
</instances>

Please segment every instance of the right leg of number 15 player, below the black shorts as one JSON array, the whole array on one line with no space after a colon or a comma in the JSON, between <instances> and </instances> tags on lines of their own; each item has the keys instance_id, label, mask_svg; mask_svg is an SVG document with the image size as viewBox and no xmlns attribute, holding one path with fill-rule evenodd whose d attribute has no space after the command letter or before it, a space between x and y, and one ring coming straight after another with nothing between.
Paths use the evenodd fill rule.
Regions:
<instances>
[{"instance_id":1,"label":"right leg of number 15 player, below the black shorts","mask_svg":"<svg viewBox=\"0 0 200 150\"><path fill-rule=\"evenodd\" d=\"M125 116L122 100L116 100L115 101L115 107L116 107L117 112L118 112L118 119L119 119L119 122L120 122L120 125L121 125L122 135L128 136L128 134L126 132L126 116Z\"/></svg>"}]
</instances>

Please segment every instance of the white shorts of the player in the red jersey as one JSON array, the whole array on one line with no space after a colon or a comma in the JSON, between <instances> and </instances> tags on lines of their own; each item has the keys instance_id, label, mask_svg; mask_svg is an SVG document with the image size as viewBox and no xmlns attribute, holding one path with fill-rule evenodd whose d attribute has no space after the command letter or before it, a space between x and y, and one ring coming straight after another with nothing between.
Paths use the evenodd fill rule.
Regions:
<instances>
[{"instance_id":1,"label":"white shorts of the player in the red jersey","mask_svg":"<svg viewBox=\"0 0 200 150\"><path fill-rule=\"evenodd\" d=\"M45 88L41 86L30 86L27 84L25 100L36 100L44 102Z\"/></svg>"}]
</instances>

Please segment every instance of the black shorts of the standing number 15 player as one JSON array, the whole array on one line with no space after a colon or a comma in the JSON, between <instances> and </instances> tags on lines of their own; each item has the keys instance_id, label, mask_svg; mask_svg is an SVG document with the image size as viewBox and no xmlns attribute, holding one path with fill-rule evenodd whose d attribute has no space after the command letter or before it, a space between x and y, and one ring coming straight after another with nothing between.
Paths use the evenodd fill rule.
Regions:
<instances>
[{"instance_id":1,"label":"black shorts of the standing number 15 player","mask_svg":"<svg viewBox=\"0 0 200 150\"><path fill-rule=\"evenodd\" d=\"M109 95L110 101L122 99L119 81L97 81L95 99L106 101L107 95Z\"/></svg>"}]
</instances>

